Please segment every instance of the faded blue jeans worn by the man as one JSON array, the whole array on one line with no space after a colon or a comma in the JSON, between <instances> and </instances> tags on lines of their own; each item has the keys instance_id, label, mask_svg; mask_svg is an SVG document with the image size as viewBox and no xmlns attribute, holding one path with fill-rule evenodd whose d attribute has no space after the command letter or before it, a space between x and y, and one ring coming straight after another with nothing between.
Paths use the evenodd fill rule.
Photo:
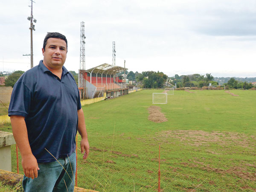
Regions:
<instances>
[{"instance_id":1,"label":"faded blue jeans worn by the man","mask_svg":"<svg viewBox=\"0 0 256 192\"><path fill-rule=\"evenodd\" d=\"M67 172L56 160L51 163L38 163L40 170L38 170L37 178L31 179L24 175L22 182L24 191L73 192L75 186L76 153L74 152L70 157L59 158L58 161Z\"/></svg>"}]
</instances>

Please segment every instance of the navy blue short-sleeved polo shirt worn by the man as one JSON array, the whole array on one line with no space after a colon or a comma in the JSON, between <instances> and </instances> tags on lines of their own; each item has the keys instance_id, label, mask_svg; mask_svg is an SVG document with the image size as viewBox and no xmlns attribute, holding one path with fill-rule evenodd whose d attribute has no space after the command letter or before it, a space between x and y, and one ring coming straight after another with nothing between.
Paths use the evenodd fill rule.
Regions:
<instances>
[{"instance_id":1,"label":"navy blue short-sleeved polo shirt worn by the man","mask_svg":"<svg viewBox=\"0 0 256 192\"><path fill-rule=\"evenodd\" d=\"M40 61L15 83L8 115L25 117L32 153L38 163L47 163L75 151L79 109L79 90L72 74L62 67L59 79Z\"/></svg>"}]
</instances>

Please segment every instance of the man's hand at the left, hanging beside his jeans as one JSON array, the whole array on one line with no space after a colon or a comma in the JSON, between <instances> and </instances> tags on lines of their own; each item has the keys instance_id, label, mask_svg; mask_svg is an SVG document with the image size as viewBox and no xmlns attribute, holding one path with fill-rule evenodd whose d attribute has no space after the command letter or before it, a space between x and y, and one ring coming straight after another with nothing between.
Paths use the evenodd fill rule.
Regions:
<instances>
[{"instance_id":1,"label":"man's hand at the left, hanging beside his jeans","mask_svg":"<svg viewBox=\"0 0 256 192\"><path fill-rule=\"evenodd\" d=\"M26 155L22 157L22 167L23 172L26 177L31 177L32 179L38 177L38 163L34 155Z\"/></svg>"}]
</instances>

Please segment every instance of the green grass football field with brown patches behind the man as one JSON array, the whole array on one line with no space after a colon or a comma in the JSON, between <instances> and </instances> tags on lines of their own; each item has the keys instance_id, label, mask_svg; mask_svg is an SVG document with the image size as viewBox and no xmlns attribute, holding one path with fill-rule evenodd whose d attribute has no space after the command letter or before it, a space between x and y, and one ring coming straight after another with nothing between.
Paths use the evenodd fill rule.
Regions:
<instances>
[{"instance_id":1,"label":"green grass football field with brown patches behind the man","mask_svg":"<svg viewBox=\"0 0 256 192\"><path fill-rule=\"evenodd\" d=\"M155 192L160 145L163 192L256 191L256 91L175 91L168 104L154 104L162 123L148 120L153 92L163 90L83 106L90 154L84 162L79 153L78 186ZM12 160L16 172L15 146Z\"/></svg>"}]
</instances>

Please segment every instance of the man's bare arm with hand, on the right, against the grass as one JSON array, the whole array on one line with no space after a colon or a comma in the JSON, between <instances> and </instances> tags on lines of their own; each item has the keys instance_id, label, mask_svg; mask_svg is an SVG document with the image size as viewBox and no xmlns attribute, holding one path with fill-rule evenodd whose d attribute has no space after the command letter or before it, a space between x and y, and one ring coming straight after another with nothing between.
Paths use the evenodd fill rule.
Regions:
<instances>
[{"instance_id":1,"label":"man's bare arm with hand, on the right, against the grass","mask_svg":"<svg viewBox=\"0 0 256 192\"><path fill-rule=\"evenodd\" d=\"M77 110L78 113L78 132L81 135L81 153L84 153L85 151L85 155L83 157L84 160L87 159L88 154L89 154L89 142L88 142L88 138L87 138L87 131L86 131L86 126L85 126L85 121L84 121L84 112L81 109Z\"/></svg>"}]
</instances>

